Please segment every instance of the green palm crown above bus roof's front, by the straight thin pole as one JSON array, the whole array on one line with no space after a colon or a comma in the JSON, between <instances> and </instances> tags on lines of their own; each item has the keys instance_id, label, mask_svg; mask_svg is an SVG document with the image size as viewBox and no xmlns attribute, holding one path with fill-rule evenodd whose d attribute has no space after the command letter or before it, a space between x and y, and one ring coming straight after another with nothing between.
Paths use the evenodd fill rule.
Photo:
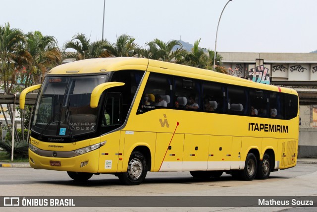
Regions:
<instances>
[{"instance_id":1,"label":"green palm crown above bus roof's front, by the straight thin pole","mask_svg":"<svg viewBox=\"0 0 317 212\"><path fill-rule=\"evenodd\" d=\"M110 46L106 40L90 43L90 39L83 33L74 35L71 41L64 44L64 49L73 49L76 52L65 53L66 58L75 58L76 60L84 60L90 58L110 57L106 51Z\"/></svg>"}]
</instances>

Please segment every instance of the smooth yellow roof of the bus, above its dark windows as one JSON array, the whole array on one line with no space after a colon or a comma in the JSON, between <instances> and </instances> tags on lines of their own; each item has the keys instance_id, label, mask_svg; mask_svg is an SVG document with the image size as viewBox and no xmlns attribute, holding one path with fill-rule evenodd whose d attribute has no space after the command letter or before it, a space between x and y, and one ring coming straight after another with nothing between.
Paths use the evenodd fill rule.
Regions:
<instances>
[{"instance_id":1,"label":"smooth yellow roof of the bus, above its dark windows","mask_svg":"<svg viewBox=\"0 0 317 212\"><path fill-rule=\"evenodd\" d=\"M121 57L86 59L54 67L51 71L49 71L49 74L90 74L119 70L153 71L197 79L212 80L228 84L254 87L259 89L293 93L297 95L297 92L290 88L256 83L247 79L231 76L224 73L218 73L215 71L204 70L174 63L149 60L145 58Z\"/></svg>"}]
</instances>

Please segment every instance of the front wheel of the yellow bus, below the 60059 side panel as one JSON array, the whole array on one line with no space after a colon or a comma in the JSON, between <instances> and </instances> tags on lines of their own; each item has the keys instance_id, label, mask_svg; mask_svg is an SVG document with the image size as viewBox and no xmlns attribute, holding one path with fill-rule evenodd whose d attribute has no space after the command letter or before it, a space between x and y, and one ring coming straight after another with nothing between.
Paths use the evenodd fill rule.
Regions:
<instances>
[{"instance_id":1,"label":"front wheel of the yellow bus, below the 60059 side panel","mask_svg":"<svg viewBox=\"0 0 317 212\"><path fill-rule=\"evenodd\" d=\"M139 151L133 151L128 163L128 170L119 173L118 177L121 183L125 185L139 185L147 175L147 162L144 154Z\"/></svg>"}]
</instances>

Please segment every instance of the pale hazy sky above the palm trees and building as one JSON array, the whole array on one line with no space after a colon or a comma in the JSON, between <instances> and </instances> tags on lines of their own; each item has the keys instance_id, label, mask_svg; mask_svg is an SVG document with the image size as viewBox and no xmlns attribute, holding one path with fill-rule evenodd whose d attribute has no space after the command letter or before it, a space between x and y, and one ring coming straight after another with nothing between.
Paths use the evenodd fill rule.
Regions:
<instances>
[{"instance_id":1,"label":"pale hazy sky above the palm trees and building","mask_svg":"<svg viewBox=\"0 0 317 212\"><path fill-rule=\"evenodd\" d=\"M104 38L127 33L141 47L198 39L214 50L228 0L106 0ZM0 25L41 31L58 46L81 32L102 39L104 0L3 0ZM217 52L309 53L317 50L317 0L232 0L218 28Z\"/></svg>"}]
</instances>

